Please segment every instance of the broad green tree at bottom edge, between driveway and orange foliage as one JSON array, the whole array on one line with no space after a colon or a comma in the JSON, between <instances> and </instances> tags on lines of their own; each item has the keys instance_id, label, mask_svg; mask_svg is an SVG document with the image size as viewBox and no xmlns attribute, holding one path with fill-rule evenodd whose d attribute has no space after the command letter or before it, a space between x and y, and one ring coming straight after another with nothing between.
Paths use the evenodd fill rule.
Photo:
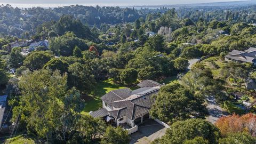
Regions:
<instances>
[{"instance_id":1,"label":"broad green tree at bottom edge, between driveway and orange foliage","mask_svg":"<svg viewBox=\"0 0 256 144\"><path fill-rule=\"evenodd\" d=\"M165 135L153 143L217 143L220 138L218 129L202 119L187 119L173 123Z\"/></svg>"}]
</instances>

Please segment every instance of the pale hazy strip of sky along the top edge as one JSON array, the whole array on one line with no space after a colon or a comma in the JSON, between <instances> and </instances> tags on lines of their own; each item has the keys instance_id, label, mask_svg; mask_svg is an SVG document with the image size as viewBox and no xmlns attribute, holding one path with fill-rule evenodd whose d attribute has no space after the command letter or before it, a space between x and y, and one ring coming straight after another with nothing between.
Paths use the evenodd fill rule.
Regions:
<instances>
[{"instance_id":1,"label":"pale hazy strip of sky along the top edge","mask_svg":"<svg viewBox=\"0 0 256 144\"><path fill-rule=\"evenodd\" d=\"M11 4L18 7L58 7L66 5L88 6L133 6L133 5L164 5L229 2L239 0L0 0L0 4Z\"/></svg>"}]
</instances>

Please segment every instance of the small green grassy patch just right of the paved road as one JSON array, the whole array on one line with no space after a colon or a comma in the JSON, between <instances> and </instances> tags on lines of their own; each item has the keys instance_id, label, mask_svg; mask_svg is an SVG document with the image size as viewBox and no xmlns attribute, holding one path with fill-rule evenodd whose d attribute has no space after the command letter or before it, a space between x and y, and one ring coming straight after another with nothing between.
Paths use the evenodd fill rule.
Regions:
<instances>
[{"instance_id":1,"label":"small green grassy patch just right of the paved road","mask_svg":"<svg viewBox=\"0 0 256 144\"><path fill-rule=\"evenodd\" d=\"M232 101L225 101L223 104L223 107L227 109L229 114L233 114L233 113L238 115L244 114L245 110L236 105L238 105L238 103L232 102Z\"/></svg>"}]
</instances>

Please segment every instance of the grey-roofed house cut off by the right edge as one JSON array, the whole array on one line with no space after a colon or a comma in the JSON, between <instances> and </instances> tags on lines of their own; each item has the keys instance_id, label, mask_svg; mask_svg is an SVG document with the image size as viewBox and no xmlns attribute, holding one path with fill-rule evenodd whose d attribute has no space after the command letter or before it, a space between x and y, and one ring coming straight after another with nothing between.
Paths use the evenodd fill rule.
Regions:
<instances>
[{"instance_id":1,"label":"grey-roofed house cut off by the right edge","mask_svg":"<svg viewBox=\"0 0 256 144\"><path fill-rule=\"evenodd\" d=\"M235 61L241 63L249 62L256 65L256 48L250 47L245 51L233 50L225 56L225 61Z\"/></svg>"}]
</instances>

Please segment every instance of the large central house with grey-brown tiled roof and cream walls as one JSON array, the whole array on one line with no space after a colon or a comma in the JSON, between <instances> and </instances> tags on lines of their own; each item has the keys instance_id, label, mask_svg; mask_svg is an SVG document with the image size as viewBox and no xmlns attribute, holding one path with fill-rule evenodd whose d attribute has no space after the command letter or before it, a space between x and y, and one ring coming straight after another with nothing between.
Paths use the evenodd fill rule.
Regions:
<instances>
[{"instance_id":1,"label":"large central house with grey-brown tiled roof and cream walls","mask_svg":"<svg viewBox=\"0 0 256 144\"><path fill-rule=\"evenodd\" d=\"M122 126L129 133L138 131L138 125L149 119L149 110L153 105L152 96L156 94L161 84L145 80L138 84L137 90L119 89L110 91L101 97L103 108L90 113L93 117L104 118Z\"/></svg>"}]
</instances>

